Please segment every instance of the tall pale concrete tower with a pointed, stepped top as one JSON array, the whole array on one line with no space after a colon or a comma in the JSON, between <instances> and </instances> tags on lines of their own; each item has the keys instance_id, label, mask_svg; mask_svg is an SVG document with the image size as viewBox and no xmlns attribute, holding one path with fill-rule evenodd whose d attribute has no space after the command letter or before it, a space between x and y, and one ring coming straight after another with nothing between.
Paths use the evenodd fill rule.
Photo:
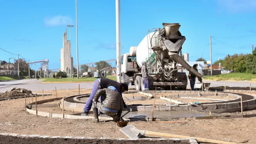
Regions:
<instances>
[{"instance_id":1,"label":"tall pale concrete tower with a pointed, stepped top","mask_svg":"<svg viewBox=\"0 0 256 144\"><path fill-rule=\"evenodd\" d=\"M67 41L67 29L63 34L63 47L60 49L60 70L66 73L73 73L73 58L70 66L70 42Z\"/></svg>"}]
</instances>

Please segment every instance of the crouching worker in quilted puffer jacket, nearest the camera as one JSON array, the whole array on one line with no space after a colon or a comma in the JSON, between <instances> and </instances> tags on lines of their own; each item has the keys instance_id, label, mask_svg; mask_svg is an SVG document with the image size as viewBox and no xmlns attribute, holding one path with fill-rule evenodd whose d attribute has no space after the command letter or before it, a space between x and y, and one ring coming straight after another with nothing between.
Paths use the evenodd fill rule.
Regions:
<instances>
[{"instance_id":1,"label":"crouching worker in quilted puffer jacket, nearest the camera","mask_svg":"<svg viewBox=\"0 0 256 144\"><path fill-rule=\"evenodd\" d=\"M103 97L102 103L98 102L100 96ZM112 117L114 122L117 122L123 111L123 99L121 94L118 93L116 88L111 84L108 88L98 90L93 99L92 110L94 113L92 122L94 123L99 122L98 110Z\"/></svg>"}]
</instances>

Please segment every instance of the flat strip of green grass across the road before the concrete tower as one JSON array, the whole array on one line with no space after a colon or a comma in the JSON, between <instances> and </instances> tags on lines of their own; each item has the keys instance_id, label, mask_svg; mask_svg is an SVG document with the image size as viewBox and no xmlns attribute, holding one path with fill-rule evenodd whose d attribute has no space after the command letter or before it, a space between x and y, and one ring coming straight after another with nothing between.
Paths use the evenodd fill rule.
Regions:
<instances>
[{"instance_id":1,"label":"flat strip of green grass across the road before the concrete tower","mask_svg":"<svg viewBox=\"0 0 256 144\"><path fill-rule=\"evenodd\" d=\"M107 76L108 79L116 80L116 76ZM45 79L43 82L87 82L87 81L95 81L96 78L81 78L79 79L75 78L61 78L61 79L55 79L55 78L42 78Z\"/></svg>"}]
</instances>

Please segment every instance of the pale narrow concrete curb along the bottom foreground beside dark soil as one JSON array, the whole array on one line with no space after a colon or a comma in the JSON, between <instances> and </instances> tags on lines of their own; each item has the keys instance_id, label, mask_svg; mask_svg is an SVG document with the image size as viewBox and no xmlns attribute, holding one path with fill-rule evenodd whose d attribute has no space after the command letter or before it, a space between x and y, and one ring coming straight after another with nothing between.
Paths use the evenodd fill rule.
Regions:
<instances>
[{"instance_id":1,"label":"pale narrow concrete curb along the bottom foreground beside dark soil","mask_svg":"<svg viewBox=\"0 0 256 144\"><path fill-rule=\"evenodd\" d=\"M18 138L67 138L67 139L110 139L110 138L92 138L92 137L70 137L70 136L42 136L42 135L25 135L20 133L0 133L2 136L13 136ZM134 141L134 140L149 140L149 141L159 141L159 140L189 140L190 144L198 144L196 139L191 138L117 138L112 140L120 141Z\"/></svg>"}]
</instances>

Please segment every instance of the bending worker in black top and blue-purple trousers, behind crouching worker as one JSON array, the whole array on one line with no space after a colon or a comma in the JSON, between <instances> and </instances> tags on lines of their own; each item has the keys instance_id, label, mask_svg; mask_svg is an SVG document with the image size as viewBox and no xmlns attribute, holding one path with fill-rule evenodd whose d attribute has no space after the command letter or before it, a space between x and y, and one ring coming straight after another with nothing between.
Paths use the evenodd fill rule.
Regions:
<instances>
[{"instance_id":1,"label":"bending worker in black top and blue-purple trousers, behind crouching worker","mask_svg":"<svg viewBox=\"0 0 256 144\"><path fill-rule=\"evenodd\" d=\"M128 91L128 85L126 83L121 83L120 84L117 81L107 79L107 78L98 78L98 79L96 79L94 81L93 86L92 86L91 95L90 95L89 99L87 100L87 102L84 106L84 109L83 109L83 112L81 113L81 116L89 116L88 113L91 110L92 100L94 99L94 96L95 96L96 92L100 89L108 88L109 84L112 84L117 89L117 92L121 94L121 96L122 96L122 92ZM100 97L100 102L101 103L102 103L102 100L103 100L103 98L101 96ZM130 110L130 108L128 108L126 106L126 104L124 103L123 99L122 99L122 101L123 101L123 107L127 110ZM102 114L102 113L99 111L99 114Z\"/></svg>"}]
</instances>

